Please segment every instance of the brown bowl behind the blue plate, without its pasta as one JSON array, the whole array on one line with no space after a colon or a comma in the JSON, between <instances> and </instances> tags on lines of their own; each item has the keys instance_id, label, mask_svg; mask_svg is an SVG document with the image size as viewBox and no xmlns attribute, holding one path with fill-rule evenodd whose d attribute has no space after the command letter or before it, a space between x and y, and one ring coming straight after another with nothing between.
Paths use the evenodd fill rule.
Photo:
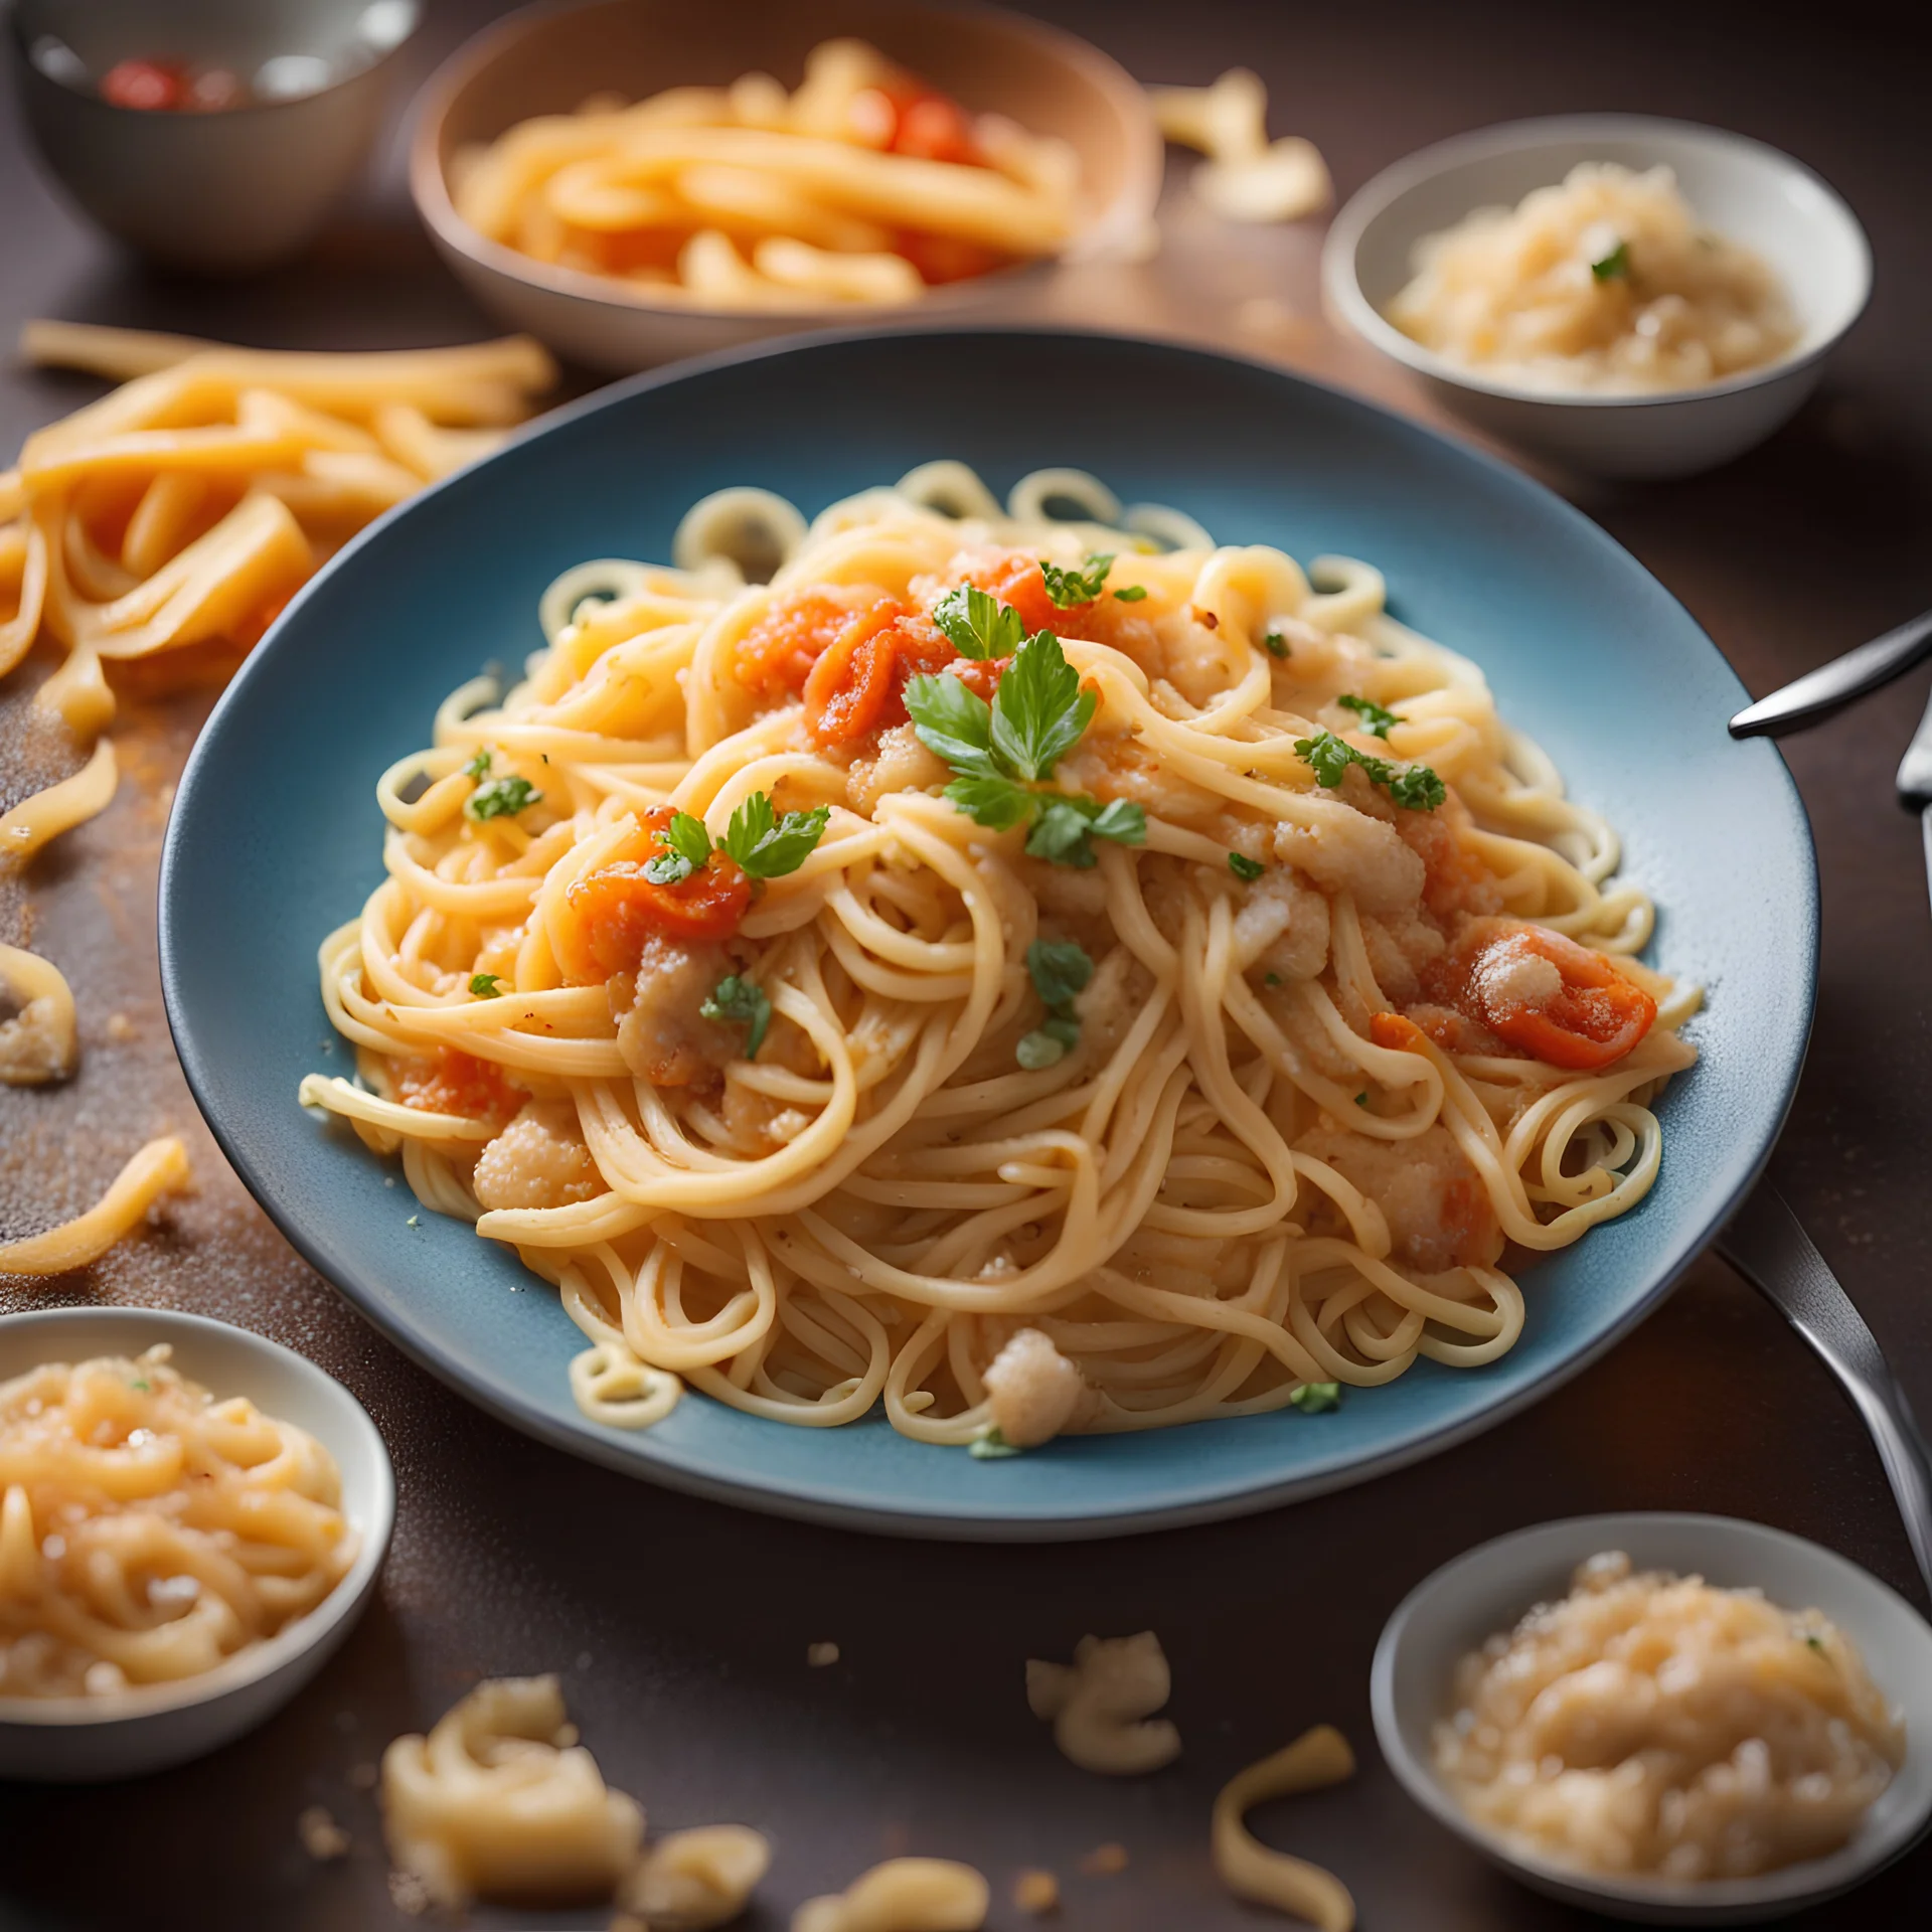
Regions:
<instances>
[{"instance_id":1,"label":"brown bowl behind the blue plate, without its pasta","mask_svg":"<svg viewBox=\"0 0 1932 1932\"><path fill-rule=\"evenodd\" d=\"M531 114L570 114L597 93L641 100L665 87L723 87L752 71L796 87L806 54L840 35L871 41L972 112L1007 114L1078 153L1090 213L1061 259L1128 251L1153 220L1161 137L1146 95L1122 68L1086 41L1016 14L914 0L728 0L711 8L599 0L514 14L460 48L423 89L410 147L415 205L444 259L487 309L595 369L645 369L840 321L893 327L1034 313L1057 261L949 282L904 307L670 305L647 290L502 247L462 220L450 201L450 156Z\"/></svg>"}]
</instances>

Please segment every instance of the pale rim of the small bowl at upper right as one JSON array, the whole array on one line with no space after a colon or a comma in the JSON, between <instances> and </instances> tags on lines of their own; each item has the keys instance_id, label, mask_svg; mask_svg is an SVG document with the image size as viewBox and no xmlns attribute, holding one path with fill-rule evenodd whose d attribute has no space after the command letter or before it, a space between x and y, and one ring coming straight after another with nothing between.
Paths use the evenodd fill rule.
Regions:
<instances>
[{"instance_id":1,"label":"pale rim of the small bowl at upper right","mask_svg":"<svg viewBox=\"0 0 1932 1932\"><path fill-rule=\"evenodd\" d=\"M1435 180L1439 174L1470 160L1486 160L1492 155L1530 153L1538 147L1557 147L1577 139L1640 141L1646 135L1652 139L1667 135L1671 139L1698 141L1706 147L1729 149L1735 155L1747 156L1764 174L1781 174L1810 185L1820 205L1828 211L1828 218L1837 222L1851 242L1859 270L1853 299L1847 301L1845 313L1833 328L1808 348L1797 348L1758 369L1745 369L1718 383L1698 383L1692 388L1665 388L1634 396L1592 390L1549 390L1528 388L1520 383L1505 383L1497 377L1482 375L1476 369L1451 361L1447 355L1435 354L1435 350L1424 348L1387 321L1362 292L1356 263L1370 224L1406 193ZM1418 375L1453 388L1553 410L1667 410L1719 396L1735 396L1752 388L1766 388L1824 361L1851 332L1872 299L1872 243L1859 216L1853 214L1851 205L1822 174L1808 168L1795 155L1787 155L1783 149L1772 147L1768 141L1758 141L1748 133L1733 133L1729 128L1675 120L1665 114L1540 114L1530 120L1497 122L1492 128L1474 128L1468 133L1434 141L1391 162L1364 182L1341 207L1321 243L1321 292L1333 309L1341 313L1349 328L1368 342L1370 348L1379 350L1391 361L1414 369Z\"/></svg>"}]
</instances>

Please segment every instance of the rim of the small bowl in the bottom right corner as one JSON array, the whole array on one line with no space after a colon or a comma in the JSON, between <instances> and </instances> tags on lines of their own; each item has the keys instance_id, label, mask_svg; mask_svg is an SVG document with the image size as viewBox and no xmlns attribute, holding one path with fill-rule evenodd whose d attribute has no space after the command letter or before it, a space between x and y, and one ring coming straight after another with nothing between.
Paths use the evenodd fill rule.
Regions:
<instances>
[{"instance_id":1,"label":"rim of the small bowl in the bottom right corner","mask_svg":"<svg viewBox=\"0 0 1932 1932\"><path fill-rule=\"evenodd\" d=\"M1437 1565L1395 1605L1389 1621L1383 1625L1381 1636L1376 1642L1374 1662L1370 1663L1368 1700L1376 1725L1376 1743L1381 1747L1381 1754L1389 1770L1395 1772L1397 1781L1437 1824L1447 1826L1457 1837L1505 1870L1526 1874L1526 1882L1538 1889L1586 1893L1609 1901L1611 1907L1665 1907L1685 1920L1692 1918L1692 1915L1739 1913L1758 1905L1795 1911L1803 1903L1849 1891L1888 1864L1903 1859L1924 1837L1926 1830L1932 1828L1932 1791L1928 1791L1915 1812L1905 1812L1891 1820L1878 1833L1857 1833L1849 1843L1826 1853L1822 1859L1803 1859L1795 1864L1760 1872L1756 1878L1673 1880L1652 1876L1619 1878L1605 1872L1592 1872L1584 1866L1538 1857L1534 1851L1520 1849L1501 1833L1478 1824L1457 1804L1434 1768L1408 1748L1408 1739L1403 1731L1403 1712L1406 1706L1399 1706L1395 1690L1397 1662L1412 1631L1426 1621L1430 1604L1443 1586L1470 1571L1501 1567L1505 1553L1524 1544L1549 1542L1563 1546L1575 1540L1578 1551L1584 1551L1586 1544L1592 1546L1584 1551L1588 1555L1598 1548L1627 1546L1633 1540L1640 1540L1644 1530L1658 1528L1696 1530L1706 1536L1727 1538L1731 1544L1781 1548L1785 1553L1810 1565L1812 1571L1847 1578L1874 1602L1886 1604L1907 1617L1920 1629L1926 1652L1932 1656L1932 1629L1926 1627L1926 1619L1918 1609L1899 1596L1891 1584L1874 1577L1862 1563L1853 1563L1851 1557L1839 1555L1835 1549L1828 1549L1808 1536L1779 1530L1770 1522L1683 1509L1625 1509L1530 1522L1501 1536L1492 1536L1488 1542L1476 1544L1474 1549L1464 1549L1461 1555ZM1575 1561L1582 1561L1582 1555ZM1515 1615L1522 1615L1528 1607L1528 1602L1520 1604ZM1857 1633L1853 1634L1857 1636ZM1447 1690L1447 1687L1443 1689ZM1926 1748L1926 1743L1918 1745L1920 1752ZM1911 1743L1907 1743L1907 1750L1911 1750Z\"/></svg>"}]
</instances>

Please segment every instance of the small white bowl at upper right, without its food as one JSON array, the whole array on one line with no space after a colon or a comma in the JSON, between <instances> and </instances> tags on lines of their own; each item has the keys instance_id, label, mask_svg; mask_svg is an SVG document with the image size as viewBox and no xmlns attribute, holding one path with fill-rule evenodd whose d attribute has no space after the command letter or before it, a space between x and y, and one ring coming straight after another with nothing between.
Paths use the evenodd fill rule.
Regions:
<instances>
[{"instance_id":1,"label":"small white bowl at upper right, without its food","mask_svg":"<svg viewBox=\"0 0 1932 1932\"><path fill-rule=\"evenodd\" d=\"M1698 216L1756 249L1779 274L1801 334L1776 363L1658 396L1551 394L1463 369L1383 317L1414 247L1482 207L1515 207L1580 160L1673 168ZM1439 141L1350 197L1321 251L1329 313L1414 369L1459 415L1571 469L1675 477L1762 442L1812 392L1826 355L1859 319L1872 251L1845 203L1810 168L1719 128L1638 114L1565 114Z\"/></svg>"}]
</instances>

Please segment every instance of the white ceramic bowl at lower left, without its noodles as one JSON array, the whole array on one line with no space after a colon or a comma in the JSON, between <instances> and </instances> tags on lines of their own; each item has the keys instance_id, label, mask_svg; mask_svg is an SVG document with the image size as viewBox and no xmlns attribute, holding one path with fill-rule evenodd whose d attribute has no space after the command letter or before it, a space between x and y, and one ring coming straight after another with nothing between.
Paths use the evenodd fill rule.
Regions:
<instances>
[{"instance_id":1,"label":"white ceramic bowl at lower left, without its noodles","mask_svg":"<svg viewBox=\"0 0 1932 1932\"><path fill-rule=\"evenodd\" d=\"M201 1677L110 1698L0 1696L0 1777L97 1783L214 1750L280 1710L350 1634L375 1590L396 1520L388 1451L361 1403L299 1354L205 1316L48 1308L0 1318L0 1381L41 1362L133 1356L160 1341L172 1343L174 1368L184 1376L218 1397L249 1397L328 1449L361 1548L348 1577L315 1609Z\"/></svg>"}]
</instances>

